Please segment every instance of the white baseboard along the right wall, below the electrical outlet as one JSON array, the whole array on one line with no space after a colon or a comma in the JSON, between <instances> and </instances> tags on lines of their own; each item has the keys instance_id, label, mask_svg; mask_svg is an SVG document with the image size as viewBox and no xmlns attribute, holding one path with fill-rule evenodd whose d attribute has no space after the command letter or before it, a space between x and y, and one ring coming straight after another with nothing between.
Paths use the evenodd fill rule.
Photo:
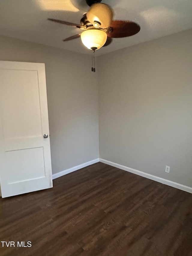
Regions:
<instances>
[{"instance_id":1,"label":"white baseboard along the right wall, below the electrical outlet","mask_svg":"<svg viewBox=\"0 0 192 256\"><path fill-rule=\"evenodd\" d=\"M102 159L102 158L99 158L99 161L100 161L101 163L108 164L108 165L111 165L111 166L113 166L113 167L117 167L117 168L122 169L122 170L124 170L124 171L130 172L130 173L134 173L134 174L137 174L137 175L139 175L139 176L142 176L142 177L145 177L145 178L152 179L152 180L154 180L154 181L163 183L163 184L168 185L168 186L171 186L171 187L173 187L173 188L178 188L178 189L181 189L181 190L183 190L183 191L192 193L192 188L191 188L191 187L187 187L187 186L185 186L185 185L182 185L182 184L179 184L179 183L170 181L170 180L168 180L168 179L163 179L163 178L160 178L160 177L158 177L158 176L154 176L154 175L149 174L149 173L144 173L144 172L141 172L141 171L138 171L138 170L129 168L129 167L127 167L127 166L121 165L121 164L116 164L116 163L113 163L113 162L111 162L111 161L107 161L107 160Z\"/></svg>"}]
</instances>

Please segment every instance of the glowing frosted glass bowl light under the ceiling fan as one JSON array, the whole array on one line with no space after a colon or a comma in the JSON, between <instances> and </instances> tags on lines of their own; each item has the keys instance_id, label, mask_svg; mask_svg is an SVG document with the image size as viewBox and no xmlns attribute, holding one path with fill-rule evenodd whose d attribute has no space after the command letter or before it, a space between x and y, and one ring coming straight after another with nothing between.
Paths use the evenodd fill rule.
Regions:
<instances>
[{"instance_id":1,"label":"glowing frosted glass bowl light under the ceiling fan","mask_svg":"<svg viewBox=\"0 0 192 256\"><path fill-rule=\"evenodd\" d=\"M81 41L88 49L100 49L107 41L107 33L100 29L88 29L81 34Z\"/></svg>"}]
</instances>

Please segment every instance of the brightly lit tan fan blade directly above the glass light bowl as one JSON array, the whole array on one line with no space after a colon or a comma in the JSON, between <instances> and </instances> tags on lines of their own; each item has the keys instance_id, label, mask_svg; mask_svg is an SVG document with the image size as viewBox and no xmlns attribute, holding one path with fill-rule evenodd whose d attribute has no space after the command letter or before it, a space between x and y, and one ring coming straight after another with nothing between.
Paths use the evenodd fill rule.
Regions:
<instances>
[{"instance_id":1,"label":"brightly lit tan fan blade directly above the glass light bowl","mask_svg":"<svg viewBox=\"0 0 192 256\"><path fill-rule=\"evenodd\" d=\"M97 21L101 24L101 28L110 27L111 21L113 19L113 12L111 8L108 5L102 3L91 5L91 8L86 15L88 21L90 21L93 26L95 26L94 22Z\"/></svg>"}]
</instances>

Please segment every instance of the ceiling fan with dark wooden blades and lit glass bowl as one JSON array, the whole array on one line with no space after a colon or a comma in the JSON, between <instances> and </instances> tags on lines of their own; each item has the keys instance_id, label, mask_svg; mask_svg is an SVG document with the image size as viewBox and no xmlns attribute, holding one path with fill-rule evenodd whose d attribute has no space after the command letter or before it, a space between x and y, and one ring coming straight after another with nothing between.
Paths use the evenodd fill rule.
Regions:
<instances>
[{"instance_id":1,"label":"ceiling fan with dark wooden blades and lit glass bowl","mask_svg":"<svg viewBox=\"0 0 192 256\"><path fill-rule=\"evenodd\" d=\"M85 1L90 9L80 20L81 25L48 18L48 20L84 30L82 33L64 39L64 42L81 37L82 43L95 52L95 50L111 44L113 38L132 36L140 31L140 26L135 22L113 20L113 10L109 5L101 3L102 0Z\"/></svg>"}]
</instances>

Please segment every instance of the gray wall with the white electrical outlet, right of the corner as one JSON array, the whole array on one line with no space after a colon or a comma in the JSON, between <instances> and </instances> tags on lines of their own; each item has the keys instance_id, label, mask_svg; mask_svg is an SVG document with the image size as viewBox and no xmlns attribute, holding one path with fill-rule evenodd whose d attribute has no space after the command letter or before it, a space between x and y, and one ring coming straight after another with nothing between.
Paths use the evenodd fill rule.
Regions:
<instances>
[{"instance_id":1,"label":"gray wall with the white electrical outlet, right of the corner","mask_svg":"<svg viewBox=\"0 0 192 256\"><path fill-rule=\"evenodd\" d=\"M98 66L100 157L191 187L192 30L100 56Z\"/></svg>"}]
</instances>

